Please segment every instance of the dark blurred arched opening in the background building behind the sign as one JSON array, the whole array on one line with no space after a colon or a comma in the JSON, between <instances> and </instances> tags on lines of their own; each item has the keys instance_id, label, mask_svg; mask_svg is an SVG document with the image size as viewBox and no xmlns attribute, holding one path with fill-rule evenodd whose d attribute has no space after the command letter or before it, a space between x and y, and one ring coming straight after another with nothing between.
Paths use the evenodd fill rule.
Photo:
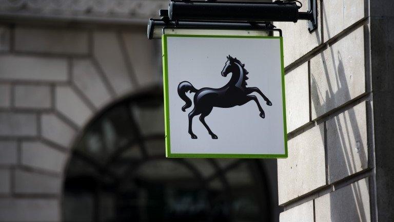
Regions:
<instances>
[{"instance_id":1,"label":"dark blurred arched opening in the background building behind the sign","mask_svg":"<svg viewBox=\"0 0 394 222\"><path fill-rule=\"evenodd\" d=\"M168 159L162 88L97 115L74 143L63 220L272 221L268 179L256 159Z\"/></svg>"}]
</instances>

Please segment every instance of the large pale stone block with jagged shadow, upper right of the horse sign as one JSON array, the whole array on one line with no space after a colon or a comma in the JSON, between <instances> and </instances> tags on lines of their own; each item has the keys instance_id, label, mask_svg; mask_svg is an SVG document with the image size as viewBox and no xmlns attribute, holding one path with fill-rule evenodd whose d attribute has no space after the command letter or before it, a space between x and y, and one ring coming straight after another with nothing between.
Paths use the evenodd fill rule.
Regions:
<instances>
[{"instance_id":1,"label":"large pale stone block with jagged shadow, upper right of the horse sign","mask_svg":"<svg viewBox=\"0 0 394 222\"><path fill-rule=\"evenodd\" d=\"M310 60L312 120L365 93L364 28Z\"/></svg>"}]
</instances>

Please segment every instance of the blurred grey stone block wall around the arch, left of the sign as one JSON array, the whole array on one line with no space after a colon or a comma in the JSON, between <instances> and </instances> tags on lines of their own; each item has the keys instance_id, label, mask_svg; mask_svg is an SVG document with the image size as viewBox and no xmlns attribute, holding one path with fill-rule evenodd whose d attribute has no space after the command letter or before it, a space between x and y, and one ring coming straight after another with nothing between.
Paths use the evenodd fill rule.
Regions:
<instances>
[{"instance_id":1,"label":"blurred grey stone block wall around the arch, left of the sign","mask_svg":"<svg viewBox=\"0 0 394 222\"><path fill-rule=\"evenodd\" d=\"M0 26L0 221L60 221L64 168L87 122L161 83L145 26Z\"/></svg>"}]
</instances>

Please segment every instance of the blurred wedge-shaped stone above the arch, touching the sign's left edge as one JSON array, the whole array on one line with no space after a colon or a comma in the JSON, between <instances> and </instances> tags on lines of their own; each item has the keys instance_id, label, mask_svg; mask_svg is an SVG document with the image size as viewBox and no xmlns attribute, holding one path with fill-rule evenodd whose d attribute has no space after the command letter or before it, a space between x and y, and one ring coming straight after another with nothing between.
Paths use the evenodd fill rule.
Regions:
<instances>
[{"instance_id":1,"label":"blurred wedge-shaped stone above the arch, touching the sign's left edge","mask_svg":"<svg viewBox=\"0 0 394 222\"><path fill-rule=\"evenodd\" d=\"M161 44L148 40L145 31L125 32L123 39L139 85L160 83L162 81Z\"/></svg>"}]
</instances>

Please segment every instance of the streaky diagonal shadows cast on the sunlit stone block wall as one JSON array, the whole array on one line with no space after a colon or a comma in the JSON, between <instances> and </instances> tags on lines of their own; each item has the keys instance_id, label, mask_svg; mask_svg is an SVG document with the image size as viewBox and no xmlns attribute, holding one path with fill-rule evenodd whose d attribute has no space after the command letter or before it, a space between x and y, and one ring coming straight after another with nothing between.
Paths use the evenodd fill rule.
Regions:
<instances>
[{"instance_id":1,"label":"streaky diagonal shadows cast on the sunlit stone block wall","mask_svg":"<svg viewBox=\"0 0 394 222\"><path fill-rule=\"evenodd\" d=\"M323 13L324 14L324 13ZM325 20L327 20L327 18L324 18ZM327 23L326 23L327 24ZM329 34L329 29L326 26L325 27L327 29L327 33L329 38L331 38L330 34ZM349 89L349 84L347 82L346 79L346 73L345 73L345 67L344 67L344 63L343 63L343 58L341 55L340 51L334 51L334 49L329 46L329 50L330 50L330 54L331 54L331 58L326 58L325 54L323 52L320 53L321 55L321 59L323 61L323 68L324 68L324 73L325 73L325 78L326 78L326 84L327 84L327 89L325 92L321 91L319 89L319 86L317 84L317 80L314 79L314 77L311 75L311 79L310 79L310 90L311 90L311 95L313 94L320 94L321 97L323 98L323 94L325 96L325 100L324 101L320 101L319 97L312 97L311 98L311 103L313 103L314 108L316 110L323 110L324 106L326 105L326 103L328 103L329 101L333 101L334 98L337 97L343 97L345 100L344 101L350 101L351 98L351 94L350 94L350 89ZM337 61L336 62L336 58L337 57ZM333 70L334 70L334 78L335 80L332 81L330 80L330 78L332 78L332 76L329 75L329 68L327 67L327 63L324 62L326 61L326 59L331 59L332 60L332 65L333 65ZM364 73L354 73L354 75L365 75ZM335 82L336 86L331 85L331 82ZM336 91L334 91L334 88L337 88ZM364 107L366 108L366 107ZM366 123L359 123L358 122L358 116L356 114L356 112L354 112L353 108L350 108L348 110L346 110L345 113L340 114L343 115L343 118L340 118L340 116L335 116L333 117L333 119L327 120L326 121L326 125L324 127L324 130L321 130L321 135L322 138L324 138L325 132L327 131L327 123L328 121L330 121L329 127L333 127L330 128L329 131L330 133L333 133L333 135L330 135L330 137L332 138L336 138L339 140L339 144L337 146L333 146L334 144L328 144L328 142L326 142L325 146L326 146L326 155L328 156L328 158L326 159L326 164L328 164L328 178L326 178L328 180L328 183L332 183L332 182L336 182L337 179L338 181L340 181L341 178L331 178L332 172L330 172L330 162L329 162L329 158L330 152L335 152L333 154L333 156L336 158L334 161L336 161L337 166L336 168L340 168L339 170L336 169L334 173L338 173L339 175L346 175L343 176L344 178L346 178L348 175L352 175L354 173L357 172L357 165L358 164L363 164L366 163L366 165L362 165L363 169L366 169L368 167L368 157L367 157L367 153L368 153L368 147L367 144L364 144L364 142L360 139L359 141L356 141L355 147L350 147L352 146L351 141L355 138L361 138L361 131L360 131L360 125L361 124L366 124ZM368 114L367 117L368 119ZM318 120L319 122L319 120ZM328 132L328 131L327 131ZM367 130L367 135L368 135L368 130ZM326 134L327 137L327 134ZM327 140L327 138L326 138ZM356 152L351 152L351 150L356 149ZM334 181L330 181L330 180L334 180ZM363 182L363 181L359 181L359 182ZM368 186L368 182L367 182L367 186ZM338 192L338 191L336 191ZM369 204L367 205L367 208L365 209L365 204L363 203L363 199L362 199L362 188L360 187L360 183L353 183L351 185L351 189L349 190L343 190L343 192L348 192L348 194L346 194L346 196L353 196L352 199L347 198L346 200L346 205L347 205L347 211L348 212L355 212L358 213L358 219L359 221L369 221L368 217L369 217ZM341 206L339 205L339 203L343 202L343 196L342 195L330 195L330 217L331 217L331 221L341 221L343 220L343 218L340 218L341 216L343 216L341 213L338 213L340 211L342 211Z\"/></svg>"}]
</instances>

